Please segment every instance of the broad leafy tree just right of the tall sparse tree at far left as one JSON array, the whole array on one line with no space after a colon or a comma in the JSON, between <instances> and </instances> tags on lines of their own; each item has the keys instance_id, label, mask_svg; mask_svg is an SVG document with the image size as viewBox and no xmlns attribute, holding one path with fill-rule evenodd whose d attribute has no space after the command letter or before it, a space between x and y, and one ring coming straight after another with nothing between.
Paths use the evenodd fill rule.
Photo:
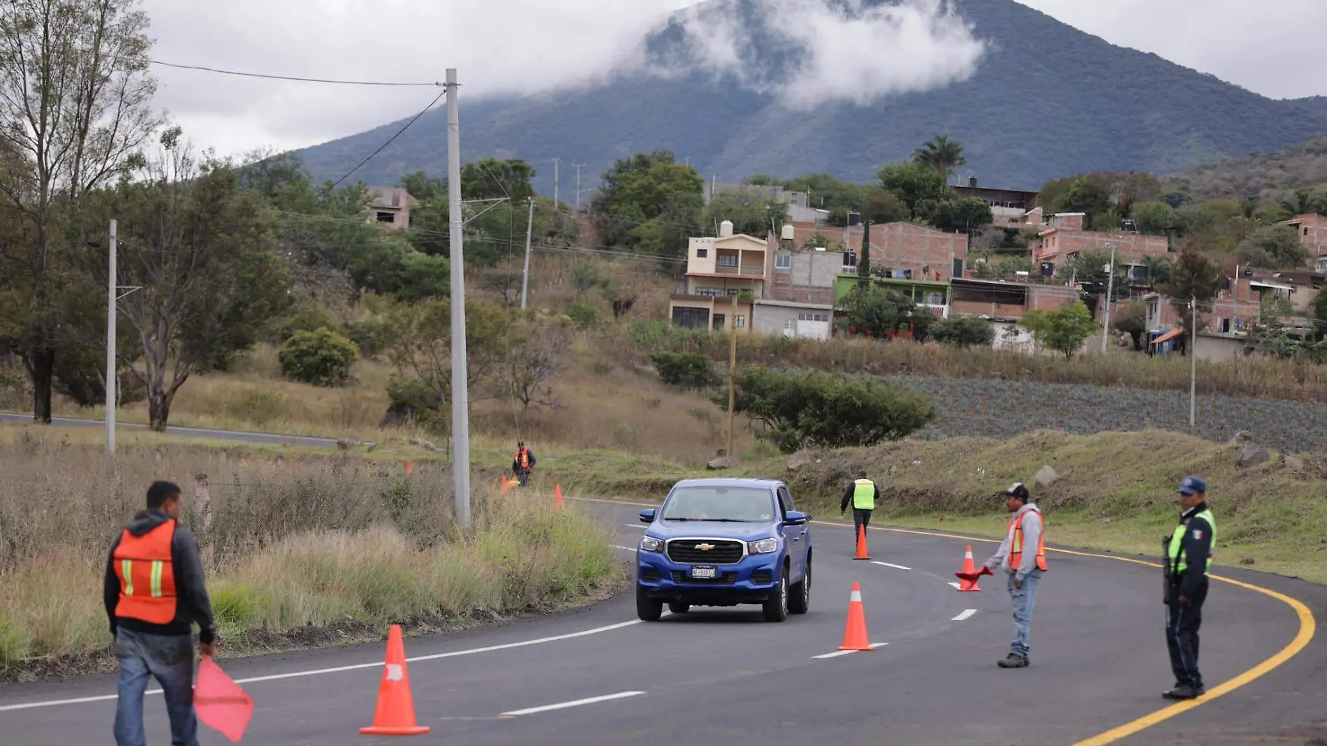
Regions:
<instances>
[{"instance_id":1,"label":"broad leafy tree just right of the tall sparse tree at far left","mask_svg":"<svg viewBox=\"0 0 1327 746\"><path fill-rule=\"evenodd\" d=\"M248 349L291 307L289 265L263 200L239 188L232 165L198 162L178 127L162 135L161 157L139 178L90 196L89 219L119 220L119 281L138 288L119 301L137 344L117 353L147 388L150 426L163 431L195 370ZM85 261L105 287L105 252ZM97 338L104 319L88 321L96 323L85 333Z\"/></svg>"}]
</instances>

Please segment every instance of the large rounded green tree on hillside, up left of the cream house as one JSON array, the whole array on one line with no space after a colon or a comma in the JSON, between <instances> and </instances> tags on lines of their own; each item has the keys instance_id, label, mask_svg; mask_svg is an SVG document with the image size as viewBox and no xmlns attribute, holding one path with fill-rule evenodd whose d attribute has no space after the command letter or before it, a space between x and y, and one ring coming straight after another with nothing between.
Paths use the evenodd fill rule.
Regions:
<instances>
[{"instance_id":1,"label":"large rounded green tree on hillside, up left of the cream house","mask_svg":"<svg viewBox=\"0 0 1327 746\"><path fill-rule=\"evenodd\" d=\"M594 227L608 246L683 256L699 234L705 179L669 150L637 153L604 171L592 204Z\"/></svg>"}]
</instances>

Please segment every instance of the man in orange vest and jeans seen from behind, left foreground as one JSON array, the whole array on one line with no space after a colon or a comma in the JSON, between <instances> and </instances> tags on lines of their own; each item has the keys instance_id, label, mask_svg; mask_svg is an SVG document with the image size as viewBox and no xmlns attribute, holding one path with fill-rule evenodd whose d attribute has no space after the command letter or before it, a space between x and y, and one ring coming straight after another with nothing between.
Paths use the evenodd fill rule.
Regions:
<instances>
[{"instance_id":1,"label":"man in orange vest and jeans seen from behind, left foreground","mask_svg":"<svg viewBox=\"0 0 1327 746\"><path fill-rule=\"evenodd\" d=\"M170 715L171 743L198 746L194 713L194 641L214 656L212 605L203 583L198 542L179 524L180 490L147 488L147 508L129 522L106 558L105 603L119 661L115 743L143 746L143 693L157 678Z\"/></svg>"}]
</instances>

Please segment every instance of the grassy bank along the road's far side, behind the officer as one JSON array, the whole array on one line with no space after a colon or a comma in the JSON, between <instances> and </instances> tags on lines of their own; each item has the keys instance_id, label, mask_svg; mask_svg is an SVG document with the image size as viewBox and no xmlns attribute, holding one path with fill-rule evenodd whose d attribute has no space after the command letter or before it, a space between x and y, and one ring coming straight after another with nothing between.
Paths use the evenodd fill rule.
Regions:
<instances>
[{"instance_id":1,"label":"grassy bank along the road's far side, behind the officer","mask_svg":"<svg viewBox=\"0 0 1327 746\"><path fill-rule=\"evenodd\" d=\"M1294 473L1274 455L1241 470L1237 453L1235 446L1168 431L1043 431L1010 441L902 441L828 451L798 470L770 459L723 474L786 479L800 507L817 519L837 519L844 486L867 469L881 487L877 520L998 538L1006 516L991 495L1015 481L1031 485L1042 466L1051 466L1059 481L1032 487L1032 494L1054 543L1147 555L1157 555L1161 536L1174 527L1176 485L1201 474L1218 520L1218 565L1327 583L1324 463L1307 459ZM703 474L612 451L551 455L541 463L544 482L640 502L657 502L677 479Z\"/></svg>"}]
</instances>

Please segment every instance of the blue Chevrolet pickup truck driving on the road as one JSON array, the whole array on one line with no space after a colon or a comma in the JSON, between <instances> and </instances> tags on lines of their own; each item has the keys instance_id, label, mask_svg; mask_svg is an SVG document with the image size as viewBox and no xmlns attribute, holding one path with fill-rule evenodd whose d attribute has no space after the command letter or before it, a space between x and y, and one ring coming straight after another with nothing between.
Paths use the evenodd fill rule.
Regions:
<instances>
[{"instance_id":1,"label":"blue Chevrolet pickup truck driving on the road","mask_svg":"<svg viewBox=\"0 0 1327 746\"><path fill-rule=\"evenodd\" d=\"M636 613L656 621L691 607L760 604L767 621L811 604L811 516L775 479L683 479L636 550Z\"/></svg>"}]
</instances>

